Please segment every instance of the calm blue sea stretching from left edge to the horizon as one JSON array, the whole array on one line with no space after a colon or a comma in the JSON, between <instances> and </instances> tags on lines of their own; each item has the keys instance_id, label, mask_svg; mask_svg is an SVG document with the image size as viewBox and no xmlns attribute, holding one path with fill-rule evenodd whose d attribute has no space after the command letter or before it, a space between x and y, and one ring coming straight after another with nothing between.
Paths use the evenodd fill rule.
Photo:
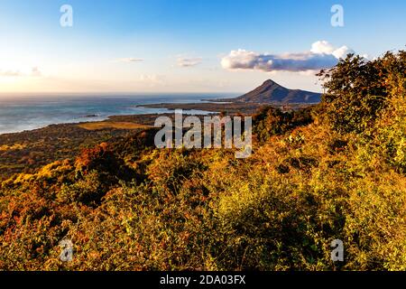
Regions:
<instances>
[{"instance_id":1,"label":"calm blue sea stretching from left edge to the horizon","mask_svg":"<svg viewBox=\"0 0 406 289\"><path fill-rule=\"evenodd\" d=\"M104 120L109 116L164 113L165 108L144 108L152 103L188 103L201 99L235 97L235 94L156 94L156 95L63 95L0 96L0 134L16 133L51 124ZM205 111L185 111L205 114ZM96 115L97 117L89 117Z\"/></svg>"}]
</instances>

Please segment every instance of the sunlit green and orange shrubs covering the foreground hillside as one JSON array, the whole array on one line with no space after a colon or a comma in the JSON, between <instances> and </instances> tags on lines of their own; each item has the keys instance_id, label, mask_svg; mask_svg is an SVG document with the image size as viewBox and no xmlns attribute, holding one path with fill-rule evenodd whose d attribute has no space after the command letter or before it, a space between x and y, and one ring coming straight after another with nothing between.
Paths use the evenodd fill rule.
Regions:
<instances>
[{"instance_id":1,"label":"sunlit green and orange shrubs covering the foreground hillside","mask_svg":"<svg viewBox=\"0 0 406 289\"><path fill-rule=\"evenodd\" d=\"M350 56L320 73L320 105L263 108L247 159L155 149L146 129L14 174L0 269L406 270L405 55Z\"/></svg>"}]
</instances>

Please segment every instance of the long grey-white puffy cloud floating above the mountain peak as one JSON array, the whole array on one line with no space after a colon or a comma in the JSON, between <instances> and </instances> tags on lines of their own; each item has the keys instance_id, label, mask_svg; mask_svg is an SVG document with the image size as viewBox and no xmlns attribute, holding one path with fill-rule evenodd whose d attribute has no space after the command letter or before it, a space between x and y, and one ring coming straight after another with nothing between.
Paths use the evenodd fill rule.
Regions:
<instances>
[{"instance_id":1,"label":"long grey-white puffy cloud floating above the mountain peak","mask_svg":"<svg viewBox=\"0 0 406 289\"><path fill-rule=\"evenodd\" d=\"M333 67L340 58L353 53L346 46L335 48L329 42L318 41L310 51L299 53L257 53L239 49L222 58L221 66L227 70L308 71Z\"/></svg>"}]
</instances>

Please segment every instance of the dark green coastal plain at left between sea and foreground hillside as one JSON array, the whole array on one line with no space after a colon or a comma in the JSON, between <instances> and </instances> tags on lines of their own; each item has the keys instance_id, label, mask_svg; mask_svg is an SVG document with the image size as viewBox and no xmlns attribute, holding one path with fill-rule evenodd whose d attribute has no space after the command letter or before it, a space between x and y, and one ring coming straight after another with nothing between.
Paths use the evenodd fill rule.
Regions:
<instances>
[{"instance_id":1,"label":"dark green coastal plain at left between sea and foreground hillside","mask_svg":"<svg viewBox=\"0 0 406 289\"><path fill-rule=\"evenodd\" d=\"M53 125L19 134L0 135L0 181L13 174L32 173L43 165L73 159L83 148L128 134L128 128L141 130L142 126ZM130 127L131 126L131 127Z\"/></svg>"}]
</instances>

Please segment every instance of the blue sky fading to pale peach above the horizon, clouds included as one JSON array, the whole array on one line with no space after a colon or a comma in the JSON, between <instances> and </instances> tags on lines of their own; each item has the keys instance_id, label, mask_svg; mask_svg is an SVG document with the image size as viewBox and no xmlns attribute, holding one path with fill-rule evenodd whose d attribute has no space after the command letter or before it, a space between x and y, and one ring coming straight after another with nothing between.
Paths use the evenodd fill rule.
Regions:
<instances>
[{"instance_id":1,"label":"blue sky fading to pale peach above the horizon, clouds included","mask_svg":"<svg viewBox=\"0 0 406 289\"><path fill-rule=\"evenodd\" d=\"M405 32L404 0L0 0L0 94L320 91L317 70Z\"/></svg>"}]
</instances>

